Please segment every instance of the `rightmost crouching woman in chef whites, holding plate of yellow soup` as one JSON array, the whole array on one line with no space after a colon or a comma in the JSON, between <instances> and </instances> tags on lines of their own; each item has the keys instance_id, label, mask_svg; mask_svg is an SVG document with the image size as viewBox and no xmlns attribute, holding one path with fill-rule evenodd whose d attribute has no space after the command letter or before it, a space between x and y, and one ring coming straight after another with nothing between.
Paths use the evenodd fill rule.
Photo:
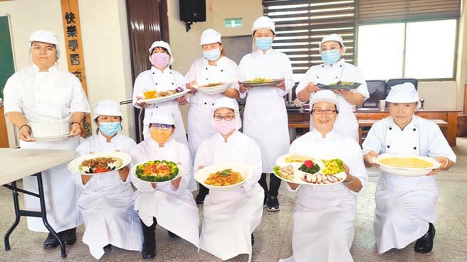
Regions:
<instances>
[{"instance_id":1,"label":"rightmost crouching woman in chef whites, holding plate of yellow soup","mask_svg":"<svg viewBox=\"0 0 467 262\"><path fill-rule=\"evenodd\" d=\"M453 153L439 126L415 116L420 107L419 94L411 83L391 88L386 101L389 114L377 121L363 142L367 167L375 165L381 153L429 156L440 167L421 177L402 177L382 172L376 187L374 238L378 253L403 249L415 242L414 251L427 253L433 249L435 207L439 188L434 174L448 170Z\"/></svg>"}]
</instances>

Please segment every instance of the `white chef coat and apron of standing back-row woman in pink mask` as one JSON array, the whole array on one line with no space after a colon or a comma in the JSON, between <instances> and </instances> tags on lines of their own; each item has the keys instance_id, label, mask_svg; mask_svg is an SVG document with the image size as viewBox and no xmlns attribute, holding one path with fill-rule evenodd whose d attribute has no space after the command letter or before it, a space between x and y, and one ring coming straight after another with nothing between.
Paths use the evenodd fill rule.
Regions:
<instances>
[{"instance_id":1,"label":"white chef coat and apron of standing back-row woman in pink mask","mask_svg":"<svg viewBox=\"0 0 467 262\"><path fill-rule=\"evenodd\" d=\"M141 72L135 80L135 87L133 88L133 105L136 108L140 108L136 102L136 97L145 97L143 94L146 91L156 90L167 91L173 90L177 87L185 88L186 81L182 74L175 70L171 70L167 67L164 71L158 70L155 67L151 67L150 70ZM187 132L183 124L182 113L180 112L177 99L158 103L149 104L145 108L145 119L143 120L143 135L145 138L150 138L149 134L149 119L153 114L174 114L175 119L175 132L174 139L180 143L184 143L188 146Z\"/></svg>"}]
</instances>

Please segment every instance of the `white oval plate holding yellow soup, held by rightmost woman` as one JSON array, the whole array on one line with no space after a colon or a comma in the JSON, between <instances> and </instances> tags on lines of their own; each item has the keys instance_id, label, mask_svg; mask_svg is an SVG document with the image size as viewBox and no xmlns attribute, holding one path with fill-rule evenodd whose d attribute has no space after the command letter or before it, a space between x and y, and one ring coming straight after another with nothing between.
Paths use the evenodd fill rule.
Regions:
<instances>
[{"instance_id":1,"label":"white oval plate holding yellow soup, held by rightmost woman","mask_svg":"<svg viewBox=\"0 0 467 262\"><path fill-rule=\"evenodd\" d=\"M418 158L421 160L426 160L429 163L433 164L430 168L397 168L392 165L386 165L383 163L380 163L379 160L384 159L384 158ZM434 158L429 158L427 156L417 156L417 155L405 155L405 154L389 154L389 153L384 153L382 155L379 155L378 158L373 158L374 163L379 164L379 168L381 170L391 173L394 175L402 175L404 177L419 177L423 175L428 175L428 173L431 172L431 170L434 170L436 168L439 168L441 165L436 159Z\"/></svg>"}]
</instances>

